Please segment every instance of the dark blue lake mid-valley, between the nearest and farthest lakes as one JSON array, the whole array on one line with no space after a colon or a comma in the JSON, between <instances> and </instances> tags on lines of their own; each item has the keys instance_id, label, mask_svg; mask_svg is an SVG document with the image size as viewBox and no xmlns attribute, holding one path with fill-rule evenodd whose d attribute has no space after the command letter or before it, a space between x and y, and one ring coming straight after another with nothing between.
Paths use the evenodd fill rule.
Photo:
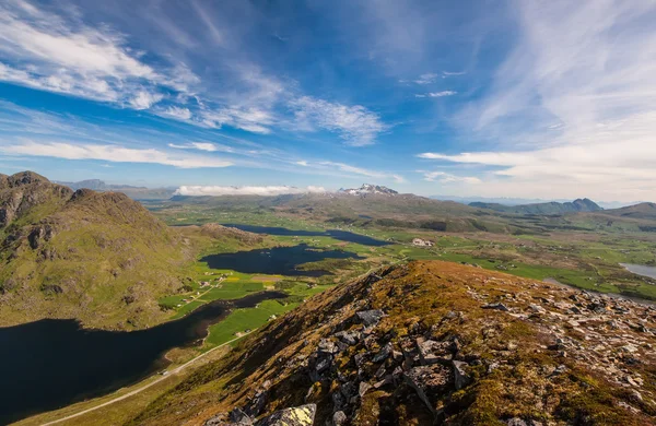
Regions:
<instances>
[{"instance_id":1,"label":"dark blue lake mid-valley, between the nearest and farthest lakes","mask_svg":"<svg viewBox=\"0 0 656 426\"><path fill-rule=\"evenodd\" d=\"M363 259L343 250L316 250L306 244L291 247L273 247L234 253L210 255L200 259L212 269L232 269L244 273L260 273L288 276L321 276L328 274L321 270L298 270L303 263L325 259Z\"/></svg>"}]
</instances>

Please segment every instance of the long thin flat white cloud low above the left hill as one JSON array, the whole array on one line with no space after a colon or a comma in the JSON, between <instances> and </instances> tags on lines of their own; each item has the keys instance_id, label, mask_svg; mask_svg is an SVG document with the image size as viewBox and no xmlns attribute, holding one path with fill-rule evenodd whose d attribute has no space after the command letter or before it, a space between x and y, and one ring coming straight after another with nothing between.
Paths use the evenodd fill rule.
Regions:
<instances>
[{"instance_id":1,"label":"long thin flat white cloud low above the left hill","mask_svg":"<svg viewBox=\"0 0 656 426\"><path fill-rule=\"evenodd\" d=\"M89 143L22 141L0 145L0 152L10 155L47 156L66 159L99 159L110 163L150 163L178 168L227 167L232 163L221 158L197 155L176 155L155 149L131 149L119 145Z\"/></svg>"}]
</instances>

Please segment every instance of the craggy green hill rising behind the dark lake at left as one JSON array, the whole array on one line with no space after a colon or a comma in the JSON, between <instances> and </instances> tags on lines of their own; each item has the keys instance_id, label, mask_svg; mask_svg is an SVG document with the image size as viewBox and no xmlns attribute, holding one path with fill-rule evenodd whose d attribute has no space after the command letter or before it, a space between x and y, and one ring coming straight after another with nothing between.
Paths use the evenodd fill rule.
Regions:
<instances>
[{"instance_id":1,"label":"craggy green hill rising behind the dark lake at left","mask_svg":"<svg viewBox=\"0 0 656 426\"><path fill-rule=\"evenodd\" d=\"M0 177L0 326L77 318L142 328L164 319L156 298L183 286L188 242L118 192Z\"/></svg>"}]
</instances>

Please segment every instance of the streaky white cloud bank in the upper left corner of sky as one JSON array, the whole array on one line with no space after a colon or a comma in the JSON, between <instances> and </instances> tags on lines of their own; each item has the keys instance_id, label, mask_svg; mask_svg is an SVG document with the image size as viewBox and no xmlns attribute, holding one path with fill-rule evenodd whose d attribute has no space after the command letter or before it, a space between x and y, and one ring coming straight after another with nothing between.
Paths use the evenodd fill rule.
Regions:
<instances>
[{"instance_id":1,"label":"streaky white cloud bank in the upper left corner of sky","mask_svg":"<svg viewBox=\"0 0 656 426\"><path fill-rule=\"evenodd\" d=\"M198 78L184 64L155 71L122 34L84 24L73 9L46 12L25 0L0 3L0 80L148 109L156 87L186 91ZM175 72L173 72L175 71Z\"/></svg>"}]
</instances>

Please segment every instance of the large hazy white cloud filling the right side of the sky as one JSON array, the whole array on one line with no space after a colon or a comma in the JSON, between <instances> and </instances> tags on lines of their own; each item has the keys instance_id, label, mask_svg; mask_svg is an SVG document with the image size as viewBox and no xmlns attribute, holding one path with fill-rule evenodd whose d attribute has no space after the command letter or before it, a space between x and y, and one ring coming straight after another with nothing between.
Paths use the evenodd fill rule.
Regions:
<instances>
[{"instance_id":1,"label":"large hazy white cloud filling the right side of the sky","mask_svg":"<svg viewBox=\"0 0 656 426\"><path fill-rule=\"evenodd\" d=\"M656 3L515 2L517 45L490 95L456 117L489 193L656 199Z\"/></svg>"}]
</instances>

